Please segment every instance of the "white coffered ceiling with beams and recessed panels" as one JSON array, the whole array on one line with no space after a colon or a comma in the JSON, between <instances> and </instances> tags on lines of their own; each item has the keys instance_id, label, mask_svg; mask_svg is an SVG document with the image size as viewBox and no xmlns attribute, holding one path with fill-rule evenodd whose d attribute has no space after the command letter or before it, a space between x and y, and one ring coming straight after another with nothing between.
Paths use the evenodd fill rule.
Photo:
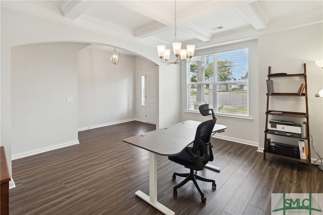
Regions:
<instances>
[{"instance_id":1,"label":"white coffered ceiling with beams and recessed panels","mask_svg":"<svg viewBox=\"0 0 323 215\"><path fill-rule=\"evenodd\" d=\"M171 47L174 1L1 1L2 7L126 40ZM176 2L177 41L196 49L323 22L323 1Z\"/></svg>"}]
</instances>

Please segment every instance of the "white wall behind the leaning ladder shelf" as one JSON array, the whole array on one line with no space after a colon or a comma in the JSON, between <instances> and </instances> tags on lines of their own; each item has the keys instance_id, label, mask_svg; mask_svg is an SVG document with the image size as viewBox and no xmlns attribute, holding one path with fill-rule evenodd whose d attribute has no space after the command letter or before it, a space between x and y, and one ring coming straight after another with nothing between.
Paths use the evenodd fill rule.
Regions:
<instances>
[{"instance_id":1,"label":"white wall behind the leaning ladder shelf","mask_svg":"<svg viewBox=\"0 0 323 215\"><path fill-rule=\"evenodd\" d=\"M306 26L297 29L281 31L272 34L260 35L259 47L259 148L263 149L264 124L266 110L266 86L268 66L272 73L303 73L303 63L306 63L309 130L313 137L313 146L319 155L323 156L323 99L315 98L314 95L323 89L323 70L315 65L314 61L323 59L323 29L322 24ZM274 85L278 90L296 91L299 84L285 80L284 85ZM283 91L285 92L285 91ZM296 98L301 99L301 98ZM304 103L295 98L284 98L286 111L304 110ZM317 157L311 149L312 160Z\"/></svg>"}]
</instances>

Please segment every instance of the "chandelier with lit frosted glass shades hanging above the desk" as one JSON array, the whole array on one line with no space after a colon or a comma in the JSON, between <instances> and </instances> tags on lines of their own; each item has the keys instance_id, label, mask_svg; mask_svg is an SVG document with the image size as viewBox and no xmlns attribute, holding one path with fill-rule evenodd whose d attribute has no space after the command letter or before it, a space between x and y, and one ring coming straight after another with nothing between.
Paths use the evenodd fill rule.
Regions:
<instances>
[{"instance_id":1,"label":"chandelier with lit frosted glass shades hanging above the desk","mask_svg":"<svg viewBox=\"0 0 323 215\"><path fill-rule=\"evenodd\" d=\"M191 58L194 55L195 45L187 45L186 49L181 49L182 43L176 41L177 37L177 25L176 25L176 0L175 0L175 42L173 43L173 51L175 55L175 60L170 62L171 49L166 49L165 45L157 45L158 56L163 63L167 64L183 64L191 61ZM179 58L180 57L180 61ZM189 60L186 60L186 58ZM163 61L165 59L165 61Z\"/></svg>"}]
</instances>

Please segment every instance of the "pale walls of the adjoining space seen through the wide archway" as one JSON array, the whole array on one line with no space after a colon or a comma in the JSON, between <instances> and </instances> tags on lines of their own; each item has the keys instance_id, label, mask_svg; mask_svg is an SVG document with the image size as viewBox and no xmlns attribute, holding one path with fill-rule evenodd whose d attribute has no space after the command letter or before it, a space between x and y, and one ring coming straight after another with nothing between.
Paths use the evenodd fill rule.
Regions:
<instances>
[{"instance_id":1,"label":"pale walls of the adjoining space seen through the wide archway","mask_svg":"<svg viewBox=\"0 0 323 215\"><path fill-rule=\"evenodd\" d=\"M13 159L78 144L77 130L135 120L135 62L155 65L127 55L114 65L110 52L87 45L12 48Z\"/></svg>"}]
</instances>

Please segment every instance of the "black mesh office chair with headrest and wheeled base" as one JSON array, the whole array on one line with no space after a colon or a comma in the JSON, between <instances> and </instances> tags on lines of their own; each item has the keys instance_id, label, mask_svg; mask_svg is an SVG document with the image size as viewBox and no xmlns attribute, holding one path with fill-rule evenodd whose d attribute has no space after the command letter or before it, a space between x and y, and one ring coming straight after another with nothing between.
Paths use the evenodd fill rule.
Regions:
<instances>
[{"instance_id":1,"label":"black mesh office chair with headrest and wheeled base","mask_svg":"<svg viewBox=\"0 0 323 215\"><path fill-rule=\"evenodd\" d=\"M201 107L202 106L202 107ZM176 176L186 177L180 184L174 187L173 194L177 195L177 188L183 186L188 181L192 180L195 187L201 194L202 202L206 201L203 191L199 188L196 179L206 182L212 182L212 188L216 189L216 181L203 178L197 175L198 170L202 170L204 165L209 161L213 161L212 146L210 143L211 133L216 124L217 118L214 116L213 110L208 109L208 104L200 106L200 113L203 116L212 114L212 119L200 123L196 129L193 147L187 147L183 152L176 156L169 156L168 159L185 166L190 169L190 173L174 173L173 180ZM195 173L194 173L195 171Z\"/></svg>"}]
</instances>

